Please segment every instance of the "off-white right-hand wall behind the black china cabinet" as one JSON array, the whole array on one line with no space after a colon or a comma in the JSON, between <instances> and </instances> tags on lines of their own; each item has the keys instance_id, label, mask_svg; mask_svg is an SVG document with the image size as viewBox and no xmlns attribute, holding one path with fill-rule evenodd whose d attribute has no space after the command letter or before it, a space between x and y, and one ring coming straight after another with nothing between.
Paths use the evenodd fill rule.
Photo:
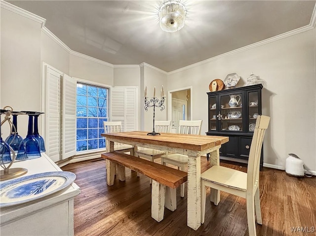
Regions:
<instances>
[{"instance_id":1,"label":"off-white right-hand wall behind the black china cabinet","mask_svg":"<svg viewBox=\"0 0 316 236\"><path fill-rule=\"evenodd\" d=\"M244 85L253 72L266 81L262 114L271 116L264 141L264 163L285 166L288 153L316 170L315 29L262 46L232 53L168 75L168 90L193 86L193 119L207 132L209 83L236 72ZM240 85L239 85L240 84Z\"/></svg>"}]
</instances>

